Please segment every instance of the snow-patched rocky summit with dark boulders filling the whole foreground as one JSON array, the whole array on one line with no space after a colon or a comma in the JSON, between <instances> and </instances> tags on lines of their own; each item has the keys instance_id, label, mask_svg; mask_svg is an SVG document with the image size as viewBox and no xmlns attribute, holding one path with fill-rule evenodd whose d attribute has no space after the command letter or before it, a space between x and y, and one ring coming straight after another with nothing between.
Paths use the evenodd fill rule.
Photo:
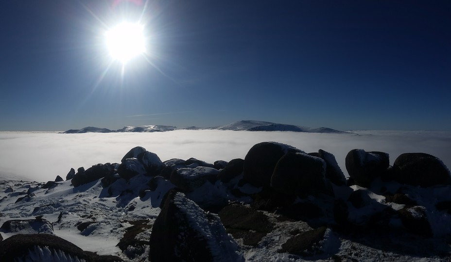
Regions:
<instances>
[{"instance_id":1,"label":"snow-patched rocky summit with dark boulders filling the whole foreground","mask_svg":"<svg viewBox=\"0 0 451 262\"><path fill-rule=\"evenodd\" d=\"M68 167L0 181L0 261L448 261L451 175L429 154L277 142L244 159ZM77 172L75 172L77 170Z\"/></svg>"}]
</instances>

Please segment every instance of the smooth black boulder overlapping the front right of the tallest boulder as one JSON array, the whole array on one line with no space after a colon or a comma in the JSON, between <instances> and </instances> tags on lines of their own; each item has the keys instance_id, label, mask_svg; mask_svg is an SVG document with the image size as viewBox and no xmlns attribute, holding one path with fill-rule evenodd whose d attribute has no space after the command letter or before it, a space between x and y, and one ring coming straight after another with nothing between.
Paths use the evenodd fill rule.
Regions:
<instances>
[{"instance_id":1,"label":"smooth black boulder overlapping the front right of the tallest boulder","mask_svg":"<svg viewBox=\"0 0 451 262\"><path fill-rule=\"evenodd\" d=\"M326 162L304 153L283 155L271 177L271 186L288 195L316 195L326 193Z\"/></svg>"}]
</instances>

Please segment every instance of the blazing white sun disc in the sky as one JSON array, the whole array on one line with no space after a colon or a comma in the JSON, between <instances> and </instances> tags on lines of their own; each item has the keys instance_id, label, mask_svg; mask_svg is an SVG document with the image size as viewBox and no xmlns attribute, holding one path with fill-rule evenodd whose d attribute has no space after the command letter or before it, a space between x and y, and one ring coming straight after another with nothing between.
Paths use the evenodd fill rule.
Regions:
<instances>
[{"instance_id":1,"label":"blazing white sun disc in the sky","mask_svg":"<svg viewBox=\"0 0 451 262\"><path fill-rule=\"evenodd\" d=\"M108 30L105 41L110 56L125 65L132 58L143 54L146 51L143 32L143 25L130 22L122 22Z\"/></svg>"}]
</instances>

